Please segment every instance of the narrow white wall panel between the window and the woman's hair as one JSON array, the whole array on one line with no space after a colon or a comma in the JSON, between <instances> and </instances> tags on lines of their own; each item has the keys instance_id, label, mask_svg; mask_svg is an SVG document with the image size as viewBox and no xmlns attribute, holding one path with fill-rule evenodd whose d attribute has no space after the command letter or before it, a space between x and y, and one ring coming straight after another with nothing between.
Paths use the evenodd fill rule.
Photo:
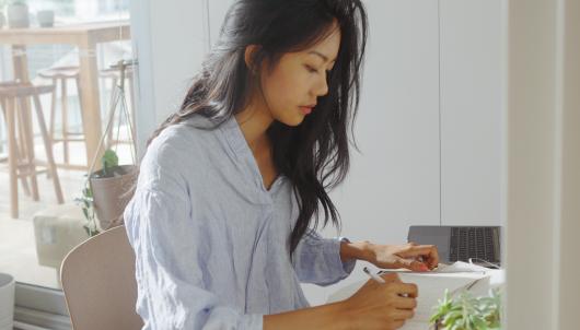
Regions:
<instances>
[{"instance_id":1,"label":"narrow white wall panel between the window and the woman's hair","mask_svg":"<svg viewBox=\"0 0 580 330\"><path fill-rule=\"evenodd\" d=\"M209 50L207 1L131 1L139 155L153 130L178 108Z\"/></svg>"}]
</instances>

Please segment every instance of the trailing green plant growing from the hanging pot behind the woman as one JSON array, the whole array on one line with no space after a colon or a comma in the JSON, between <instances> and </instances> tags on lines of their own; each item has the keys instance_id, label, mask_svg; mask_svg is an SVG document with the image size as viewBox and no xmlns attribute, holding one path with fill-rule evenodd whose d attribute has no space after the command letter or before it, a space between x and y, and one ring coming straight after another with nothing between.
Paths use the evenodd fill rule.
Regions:
<instances>
[{"instance_id":1,"label":"trailing green plant growing from the hanging pot behind the woman","mask_svg":"<svg viewBox=\"0 0 580 330\"><path fill-rule=\"evenodd\" d=\"M117 153L113 150L105 151L103 157L101 158L101 163L103 164L102 170L97 170L85 176L90 176L89 178L106 178L113 177L116 174L124 174L121 167L119 167L119 158ZM86 220L86 223L83 226L86 235L89 235L89 237L97 235L100 232L96 226L93 191L91 189L89 179L84 181L82 196L80 198L76 198L74 201L82 208L82 213Z\"/></svg>"}]
</instances>

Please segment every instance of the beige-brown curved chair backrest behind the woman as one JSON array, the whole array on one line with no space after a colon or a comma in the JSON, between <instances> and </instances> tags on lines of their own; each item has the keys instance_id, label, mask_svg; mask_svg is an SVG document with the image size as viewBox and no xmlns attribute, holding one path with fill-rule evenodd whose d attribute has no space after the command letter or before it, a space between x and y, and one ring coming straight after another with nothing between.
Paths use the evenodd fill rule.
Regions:
<instances>
[{"instance_id":1,"label":"beige-brown curved chair backrest behind the woman","mask_svg":"<svg viewBox=\"0 0 580 330\"><path fill-rule=\"evenodd\" d=\"M125 226L98 234L70 251L60 279L74 330L142 328L135 311L135 254Z\"/></svg>"}]
</instances>

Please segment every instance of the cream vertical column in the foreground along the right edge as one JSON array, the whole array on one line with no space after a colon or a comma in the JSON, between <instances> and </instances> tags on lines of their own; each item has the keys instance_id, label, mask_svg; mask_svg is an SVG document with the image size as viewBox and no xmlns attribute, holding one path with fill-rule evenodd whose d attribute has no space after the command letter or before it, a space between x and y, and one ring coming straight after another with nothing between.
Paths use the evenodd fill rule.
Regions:
<instances>
[{"instance_id":1,"label":"cream vertical column in the foreground along the right edge","mask_svg":"<svg viewBox=\"0 0 580 330\"><path fill-rule=\"evenodd\" d=\"M507 329L578 329L580 5L506 4Z\"/></svg>"}]
</instances>

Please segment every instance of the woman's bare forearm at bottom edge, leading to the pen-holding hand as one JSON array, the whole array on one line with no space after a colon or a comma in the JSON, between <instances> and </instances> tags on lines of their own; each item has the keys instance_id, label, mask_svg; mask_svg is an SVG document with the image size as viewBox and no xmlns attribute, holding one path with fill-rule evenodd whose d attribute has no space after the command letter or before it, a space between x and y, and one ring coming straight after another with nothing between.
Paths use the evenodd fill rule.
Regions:
<instances>
[{"instance_id":1,"label":"woman's bare forearm at bottom edge, leading to the pen-holding hand","mask_svg":"<svg viewBox=\"0 0 580 330\"><path fill-rule=\"evenodd\" d=\"M281 314L265 315L264 330L348 330L344 304L333 303Z\"/></svg>"}]
</instances>

